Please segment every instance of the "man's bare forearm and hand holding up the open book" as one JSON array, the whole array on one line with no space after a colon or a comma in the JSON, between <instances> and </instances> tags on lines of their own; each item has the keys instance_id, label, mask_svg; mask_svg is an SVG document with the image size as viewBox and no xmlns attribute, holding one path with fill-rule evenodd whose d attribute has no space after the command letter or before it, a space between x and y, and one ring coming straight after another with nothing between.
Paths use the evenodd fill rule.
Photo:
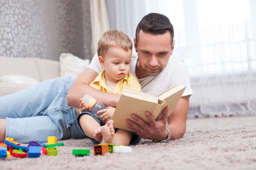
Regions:
<instances>
[{"instance_id":1,"label":"man's bare forearm and hand holding up the open book","mask_svg":"<svg viewBox=\"0 0 256 170\"><path fill-rule=\"evenodd\" d=\"M140 135L144 139L152 139L161 141L167 138L166 122L168 120L168 129L171 132L171 139L177 139L184 135L186 131L186 117L189 111L189 96L180 98L172 114L167 118L169 107L163 110L161 119L155 121L149 112L145 112L149 124L140 119L137 115L132 114L131 117L137 123L127 119L128 128ZM142 133L141 133L142 132Z\"/></svg>"}]
</instances>

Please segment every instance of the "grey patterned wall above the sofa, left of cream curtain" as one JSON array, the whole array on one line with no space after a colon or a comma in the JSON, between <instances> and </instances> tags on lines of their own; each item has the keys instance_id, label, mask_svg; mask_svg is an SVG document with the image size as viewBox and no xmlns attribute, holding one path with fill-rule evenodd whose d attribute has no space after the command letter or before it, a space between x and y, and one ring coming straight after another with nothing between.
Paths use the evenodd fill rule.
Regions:
<instances>
[{"instance_id":1,"label":"grey patterned wall above the sofa, left of cream curtain","mask_svg":"<svg viewBox=\"0 0 256 170\"><path fill-rule=\"evenodd\" d=\"M91 58L89 0L0 0L0 55Z\"/></svg>"}]
</instances>

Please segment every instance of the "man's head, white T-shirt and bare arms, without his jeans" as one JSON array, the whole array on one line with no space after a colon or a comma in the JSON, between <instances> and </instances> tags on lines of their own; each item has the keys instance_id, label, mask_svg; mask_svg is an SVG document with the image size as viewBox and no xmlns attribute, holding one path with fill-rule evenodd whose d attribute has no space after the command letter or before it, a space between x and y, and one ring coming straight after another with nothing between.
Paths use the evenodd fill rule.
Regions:
<instances>
[{"instance_id":1,"label":"man's head, white T-shirt and bare arms, without his jeans","mask_svg":"<svg viewBox=\"0 0 256 170\"><path fill-rule=\"evenodd\" d=\"M175 41L174 30L169 19L156 13L145 15L137 26L130 72L136 75L145 93L157 96L161 91L177 84L186 85L180 101L172 114L167 117L168 106L160 120L155 121L145 112L149 124L136 114L127 119L127 126L144 139L169 142L183 136L186 131L186 117L189 109L189 96L192 95L189 73L182 61L170 58ZM79 108L79 98L84 94L93 96L107 106L116 107L120 94L106 94L89 87L90 82L102 71L97 55L89 68L76 78L67 94L67 105ZM83 115L82 115L83 116ZM166 126L166 122L168 122Z\"/></svg>"}]
</instances>

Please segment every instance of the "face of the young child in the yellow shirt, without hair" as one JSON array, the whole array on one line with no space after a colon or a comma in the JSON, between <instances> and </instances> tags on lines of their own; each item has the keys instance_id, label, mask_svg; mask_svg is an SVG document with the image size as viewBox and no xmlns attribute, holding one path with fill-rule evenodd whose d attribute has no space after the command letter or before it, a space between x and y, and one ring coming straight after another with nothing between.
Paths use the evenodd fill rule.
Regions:
<instances>
[{"instance_id":1,"label":"face of the young child in the yellow shirt, without hair","mask_svg":"<svg viewBox=\"0 0 256 170\"><path fill-rule=\"evenodd\" d=\"M99 62L105 67L105 79L116 82L124 78L130 70L131 54L132 50L111 47L104 57L99 56Z\"/></svg>"}]
</instances>

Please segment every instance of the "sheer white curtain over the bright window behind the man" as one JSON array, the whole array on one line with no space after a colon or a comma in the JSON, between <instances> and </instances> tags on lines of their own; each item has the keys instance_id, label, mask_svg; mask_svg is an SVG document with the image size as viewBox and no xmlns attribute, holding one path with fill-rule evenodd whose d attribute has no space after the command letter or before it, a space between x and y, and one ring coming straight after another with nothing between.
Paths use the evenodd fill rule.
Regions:
<instances>
[{"instance_id":1,"label":"sheer white curtain over the bright window behind the man","mask_svg":"<svg viewBox=\"0 0 256 170\"><path fill-rule=\"evenodd\" d=\"M189 69L188 117L256 115L256 0L107 0L110 26L135 36L141 18L165 14L173 56Z\"/></svg>"}]
</instances>

